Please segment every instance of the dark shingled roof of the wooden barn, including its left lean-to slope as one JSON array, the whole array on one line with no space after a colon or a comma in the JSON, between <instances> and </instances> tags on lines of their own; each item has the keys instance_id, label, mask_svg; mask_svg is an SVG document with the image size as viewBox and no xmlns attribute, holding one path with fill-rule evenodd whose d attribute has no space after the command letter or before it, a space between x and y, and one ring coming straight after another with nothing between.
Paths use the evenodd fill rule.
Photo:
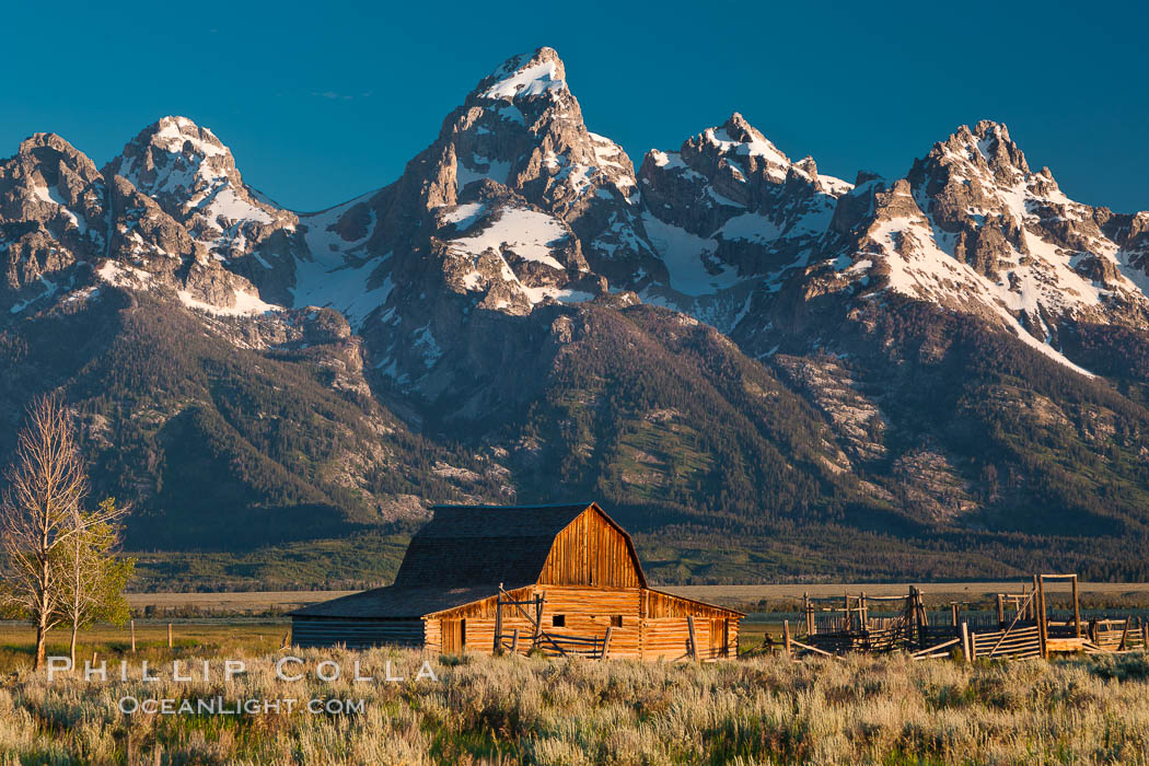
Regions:
<instances>
[{"instance_id":1,"label":"dark shingled roof of the wooden barn, including its left lean-to slope","mask_svg":"<svg viewBox=\"0 0 1149 766\"><path fill-rule=\"evenodd\" d=\"M507 590L533 585L542 574L555 537L592 505L602 512L595 503L437 505L431 520L411 537L394 585L291 614L409 619L494 596L500 585ZM618 527L612 520L610 524ZM633 546L631 551L633 555ZM645 585L641 572L639 568Z\"/></svg>"}]
</instances>

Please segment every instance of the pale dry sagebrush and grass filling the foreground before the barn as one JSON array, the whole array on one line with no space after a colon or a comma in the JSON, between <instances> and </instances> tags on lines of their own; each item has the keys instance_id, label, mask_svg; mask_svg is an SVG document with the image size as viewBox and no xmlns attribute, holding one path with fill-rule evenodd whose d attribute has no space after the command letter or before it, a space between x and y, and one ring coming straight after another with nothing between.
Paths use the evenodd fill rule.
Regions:
<instances>
[{"instance_id":1,"label":"pale dry sagebrush and grass filling the foreground before the barn","mask_svg":"<svg viewBox=\"0 0 1149 766\"><path fill-rule=\"evenodd\" d=\"M236 650L240 651L240 650ZM0 760L114 763L132 752L196 764L1142 764L1149 752L1149 661L1141 655L1013 665L904 657L792 664L589 663L414 651L300 652L345 678L249 672L192 683L138 679L48 683L26 671L0 690ZM219 655L214 655L218 657ZM354 660L408 680L354 683ZM414 681L424 659L438 681ZM133 671L134 675L138 675ZM352 698L358 715L144 715L139 698Z\"/></svg>"}]
</instances>

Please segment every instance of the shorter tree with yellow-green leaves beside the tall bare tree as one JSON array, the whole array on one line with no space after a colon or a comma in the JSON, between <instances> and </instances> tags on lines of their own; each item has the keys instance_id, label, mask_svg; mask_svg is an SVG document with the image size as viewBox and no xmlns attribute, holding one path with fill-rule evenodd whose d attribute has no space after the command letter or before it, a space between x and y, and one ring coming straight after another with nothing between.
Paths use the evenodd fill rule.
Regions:
<instances>
[{"instance_id":1,"label":"shorter tree with yellow-green leaves beside the tall bare tree","mask_svg":"<svg viewBox=\"0 0 1149 766\"><path fill-rule=\"evenodd\" d=\"M116 508L113 497L105 498L94 513L77 511L72 517L74 532L61 546L57 602L61 617L71 627L68 656L72 667L82 627L97 619L122 625L129 617L123 590L136 568L136 559L115 555L119 544L115 519L126 512L126 508ZM103 520L94 520L95 517Z\"/></svg>"}]
</instances>

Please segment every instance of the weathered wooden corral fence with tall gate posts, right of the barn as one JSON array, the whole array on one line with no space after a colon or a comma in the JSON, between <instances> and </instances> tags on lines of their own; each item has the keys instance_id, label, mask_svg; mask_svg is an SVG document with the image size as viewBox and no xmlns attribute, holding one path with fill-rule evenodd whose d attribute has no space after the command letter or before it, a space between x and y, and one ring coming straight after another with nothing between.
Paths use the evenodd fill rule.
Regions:
<instances>
[{"instance_id":1,"label":"weathered wooden corral fence with tall gate posts, right of the barn","mask_svg":"<svg viewBox=\"0 0 1149 766\"><path fill-rule=\"evenodd\" d=\"M1046 602L1050 580L1069 580L1072 613L1052 614ZM889 608L894 609L890 610ZM871 609L884 614L871 616ZM782 626L781 649L792 657L841 656L847 652L907 651L915 659L950 657L1025 659L1057 652L1113 653L1149 651L1149 624L1140 618L1081 619L1075 574L1035 574L1032 588L997 594L996 614L970 614L967 604L951 602L948 619L930 622L923 591L905 596L866 597L843 594L823 606L803 596L804 632ZM893 612L893 613L890 613ZM936 618L935 618L936 619Z\"/></svg>"}]
</instances>

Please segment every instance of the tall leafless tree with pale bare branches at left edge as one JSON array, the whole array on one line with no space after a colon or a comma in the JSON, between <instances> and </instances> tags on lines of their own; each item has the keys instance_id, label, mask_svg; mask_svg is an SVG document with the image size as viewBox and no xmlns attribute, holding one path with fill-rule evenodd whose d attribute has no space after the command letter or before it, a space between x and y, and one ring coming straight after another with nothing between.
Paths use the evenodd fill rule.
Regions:
<instances>
[{"instance_id":1,"label":"tall leafless tree with pale bare branches at left edge","mask_svg":"<svg viewBox=\"0 0 1149 766\"><path fill-rule=\"evenodd\" d=\"M48 630L61 619L61 546L84 525L109 520L97 511L76 521L87 472L60 397L40 396L29 407L7 478L0 503L0 594L36 626L33 667L39 670Z\"/></svg>"}]
</instances>

